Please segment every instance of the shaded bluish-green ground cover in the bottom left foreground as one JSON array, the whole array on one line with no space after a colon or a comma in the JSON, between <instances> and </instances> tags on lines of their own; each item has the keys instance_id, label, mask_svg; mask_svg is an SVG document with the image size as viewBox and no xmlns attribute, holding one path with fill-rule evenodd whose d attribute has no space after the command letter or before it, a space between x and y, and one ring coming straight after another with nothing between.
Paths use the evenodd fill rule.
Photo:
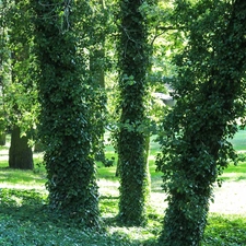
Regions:
<instances>
[{"instance_id":1,"label":"shaded bluish-green ground cover in the bottom left foreground","mask_svg":"<svg viewBox=\"0 0 246 246\"><path fill-rule=\"evenodd\" d=\"M46 200L46 195L35 190L1 189L0 245L141 245L124 232L80 227L72 220L51 213Z\"/></svg>"}]
</instances>

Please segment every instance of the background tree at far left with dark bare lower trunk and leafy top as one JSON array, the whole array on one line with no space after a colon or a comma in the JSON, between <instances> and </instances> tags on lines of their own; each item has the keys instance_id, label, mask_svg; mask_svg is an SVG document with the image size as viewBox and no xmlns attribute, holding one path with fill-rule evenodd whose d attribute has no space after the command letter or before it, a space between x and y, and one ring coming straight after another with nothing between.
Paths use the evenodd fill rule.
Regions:
<instances>
[{"instance_id":1,"label":"background tree at far left with dark bare lower trunk and leafy top","mask_svg":"<svg viewBox=\"0 0 246 246\"><path fill-rule=\"evenodd\" d=\"M32 129L34 118L31 112L35 105L31 72L32 23L28 1L15 0L9 4L11 7L5 16L8 49L11 54L9 57L11 80L5 86L5 108L12 128L9 166L32 169L33 152L28 144L31 137L28 131Z\"/></svg>"}]
</instances>

